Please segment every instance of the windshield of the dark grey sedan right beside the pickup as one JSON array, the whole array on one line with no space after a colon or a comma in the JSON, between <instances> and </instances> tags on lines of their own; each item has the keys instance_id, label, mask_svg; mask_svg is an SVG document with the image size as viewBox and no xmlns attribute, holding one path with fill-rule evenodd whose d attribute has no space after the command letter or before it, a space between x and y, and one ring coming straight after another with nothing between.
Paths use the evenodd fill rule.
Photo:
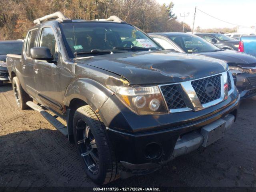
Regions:
<instances>
[{"instance_id":1,"label":"windshield of the dark grey sedan right beside the pickup","mask_svg":"<svg viewBox=\"0 0 256 192\"><path fill-rule=\"evenodd\" d=\"M169 36L169 38L187 53L221 51L220 48L198 36Z\"/></svg>"}]
</instances>

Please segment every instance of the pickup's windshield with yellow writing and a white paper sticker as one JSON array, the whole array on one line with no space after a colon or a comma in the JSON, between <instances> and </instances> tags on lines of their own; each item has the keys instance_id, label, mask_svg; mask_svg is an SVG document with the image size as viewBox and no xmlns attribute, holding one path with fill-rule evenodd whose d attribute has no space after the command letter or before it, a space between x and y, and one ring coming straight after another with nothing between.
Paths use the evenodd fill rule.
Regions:
<instances>
[{"instance_id":1,"label":"pickup's windshield with yellow writing and a white paper sticker","mask_svg":"<svg viewBox=\"0 0 256 192\"><path fill-rule=\"evenodd\" d=\"M74 31L73 31L74 24ZM63 38L67 49L74 58L74 53L106 54L99 50L160 50L153 40L137 28L128 24L110 22L73 22L61 23ZM75 38L74 38L75 37ZM74 41L75 39L75 41ZM133 49L131 49L133 47ZM148 48L148 49L146 49ZM80 54L79 54L80 55Z\"/></svg>"}]
</instances>

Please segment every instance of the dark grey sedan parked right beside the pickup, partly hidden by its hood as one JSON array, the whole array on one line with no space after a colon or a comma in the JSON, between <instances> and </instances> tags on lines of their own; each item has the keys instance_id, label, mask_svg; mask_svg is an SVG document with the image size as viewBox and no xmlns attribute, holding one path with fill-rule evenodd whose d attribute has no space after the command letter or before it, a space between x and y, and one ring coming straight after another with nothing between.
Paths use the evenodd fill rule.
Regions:
<instances>
[{"instance_id":1,"label":"dark grey sedan parked right beside the pickup, partly hidden by its hood","mask_svg":"<svg viewBox=\"0 0 256 192\"><path fill-rule=\"evenodd\" d=\"M241 98L256 95L256 57L238 53L234 50L220 49L191 34L154 33L149 35L167 50L204 55L227 62Z\"/></svg>"}]
</instances>

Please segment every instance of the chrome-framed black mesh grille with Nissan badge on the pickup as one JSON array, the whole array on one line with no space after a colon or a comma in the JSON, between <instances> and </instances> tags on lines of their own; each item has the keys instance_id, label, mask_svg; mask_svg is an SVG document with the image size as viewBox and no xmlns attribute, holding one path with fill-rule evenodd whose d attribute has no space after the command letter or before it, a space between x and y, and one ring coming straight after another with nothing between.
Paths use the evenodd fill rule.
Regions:
<instances>
[{"instance_id":1,"label":"chrome-framed black mesh grille with Nissan badge on the pickup","mask_svg":"<svg viewBox=\"0 0 256 192\"><path fill-rule=\"evenodd\" d=\"M234 90L230 72L177 84L159 85L171 113L199 111L222 102L225 98L224 78L227 75L228 94Z\"/></svg>"}]
</instances>

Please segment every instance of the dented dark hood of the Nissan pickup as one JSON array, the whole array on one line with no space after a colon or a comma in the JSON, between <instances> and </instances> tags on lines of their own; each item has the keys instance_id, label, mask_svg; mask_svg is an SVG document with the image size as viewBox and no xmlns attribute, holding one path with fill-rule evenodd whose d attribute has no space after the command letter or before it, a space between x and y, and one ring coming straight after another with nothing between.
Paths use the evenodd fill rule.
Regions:
<instances>
[{"instance_id":1,"label":"dented dark hood of the Nissan pickup","mask_svg":"<svg viewBox=\"0 0 256 192\"><path fill-rule=\"evenodd\" d=\"M105 54L76 60L126 78L130 84L182 82L224 72L225 62L169 51Z\"/></svg>"}]
</instances>

